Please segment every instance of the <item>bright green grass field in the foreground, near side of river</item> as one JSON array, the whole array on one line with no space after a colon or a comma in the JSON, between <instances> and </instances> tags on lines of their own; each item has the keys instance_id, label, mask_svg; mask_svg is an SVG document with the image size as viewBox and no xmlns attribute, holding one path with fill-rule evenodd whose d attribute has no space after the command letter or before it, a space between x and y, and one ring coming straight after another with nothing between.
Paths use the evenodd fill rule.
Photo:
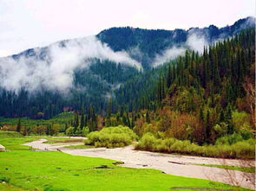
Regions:
<instances>
[{"instance_id":1,"label":"bright green grass field in the foreground, near side of river","mask_svg":"<svg viewBox=\"0 0 256 191\"><path fill-rule=\"evenodd\" d=\"M32 151L20 145L35 138L0 137L0 143L10 150L0 153L0 190L232 188L219 182L167 175L154 169L119 167L112 164L113 160L71 156L58 151ZM109 169L95 169L101 165L107 165Z\"/></svg>"}]
</instances>

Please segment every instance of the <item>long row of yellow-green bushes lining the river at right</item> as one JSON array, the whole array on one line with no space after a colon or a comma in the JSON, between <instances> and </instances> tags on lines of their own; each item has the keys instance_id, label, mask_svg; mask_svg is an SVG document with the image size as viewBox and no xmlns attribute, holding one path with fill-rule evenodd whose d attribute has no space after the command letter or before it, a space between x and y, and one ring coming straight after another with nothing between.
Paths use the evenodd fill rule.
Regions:
<instances>
[{"instance_id":1,"label":"long row of yellow-green bushes lining the river at right","mask_svg":"<svg viewBox=\"0 0 256 191\"><path fill-rule=\"evenodd\" d=\"M254 145L256 141L254 139L243 140L240 135L233 135L228 138L223 139L225 142L221 144L199 146L187 140L155 138L153 134L147 133L141 137L135 149L223 158L248 159L255 157Z\"/></svg>"}]
</instances>

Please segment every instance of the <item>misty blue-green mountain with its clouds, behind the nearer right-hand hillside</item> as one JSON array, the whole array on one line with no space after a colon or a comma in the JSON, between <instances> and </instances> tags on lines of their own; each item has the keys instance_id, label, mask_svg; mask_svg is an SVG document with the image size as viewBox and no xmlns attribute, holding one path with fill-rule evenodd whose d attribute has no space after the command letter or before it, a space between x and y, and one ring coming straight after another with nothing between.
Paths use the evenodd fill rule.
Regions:
<instances>
[{"instance_id":1,"label":"misty blue-green mountain with its clouds, behind the nearer right-hand hillside","mask_svg":"<svg viewBox=\"0 0 256 191\"><path fill-rule=\"evenodd\" d=\"M116 111L126 107L121 101L129 102L123 99L128 89L140 93L142 84L154 88L166 69L156 66L185 54L187 48L202 53L204 46L253 26L255 19L247 17L220 29L213 25L188 30L111 28L1 58L0 116L51 118L82 105L104 114L109 98L118 104L113 107ZM136 93L125 99L130 97L136 99Z\"/></svg>"}]
</instances>

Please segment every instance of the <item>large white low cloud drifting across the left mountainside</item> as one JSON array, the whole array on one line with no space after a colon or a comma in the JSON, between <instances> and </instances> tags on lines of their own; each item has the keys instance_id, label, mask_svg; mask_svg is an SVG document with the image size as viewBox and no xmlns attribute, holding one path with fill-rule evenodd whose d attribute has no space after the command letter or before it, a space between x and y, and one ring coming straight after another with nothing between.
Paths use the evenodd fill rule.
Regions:
<instances>
[{"instance_id":1,"label":"large white low cloud drifting across the left mountainside","mask_svg":"<svg viewBox=\"0 0 256 191\"><path fill-rule=\"evenodd\" d=\"M89 67L90 60L94 58L142 69L141 64L126 52L114 52L95 36L51 44L43 50L43 54L46 54L43 60L38 59L42 48L34 50L36 55L0 60L0 87L17 91L24 86L29 91L35 91L43 86L49 90L65 92L73 86L75 68Z\"/></svg>"}]
</instances>

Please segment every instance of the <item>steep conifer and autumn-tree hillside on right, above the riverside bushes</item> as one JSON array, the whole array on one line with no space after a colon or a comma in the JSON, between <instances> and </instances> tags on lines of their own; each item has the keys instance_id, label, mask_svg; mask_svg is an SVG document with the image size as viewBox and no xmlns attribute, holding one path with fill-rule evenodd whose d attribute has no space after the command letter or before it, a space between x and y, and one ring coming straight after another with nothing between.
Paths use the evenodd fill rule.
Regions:
<instances>
[{"instance_id":1,"label":"steep conifer and autumn-tree hillside on right, above the riverside bushes","mask_svg":"<svg viewBox=\"0 0 256 191\"><path fill-rule=\"evenodd\" d=\"M201 56L187 51L169 64L157 82L154 99L141 93L144 99L139 100L148 100L148 104L141 104L144 115L135 120L134 130L139 135L150 131L156 137L199 144L215 143L225 135L233 136L226 137L231 143L253 137L254 36L254 29L248 29L205 48Z\"/></svg>"}]
</instances>

